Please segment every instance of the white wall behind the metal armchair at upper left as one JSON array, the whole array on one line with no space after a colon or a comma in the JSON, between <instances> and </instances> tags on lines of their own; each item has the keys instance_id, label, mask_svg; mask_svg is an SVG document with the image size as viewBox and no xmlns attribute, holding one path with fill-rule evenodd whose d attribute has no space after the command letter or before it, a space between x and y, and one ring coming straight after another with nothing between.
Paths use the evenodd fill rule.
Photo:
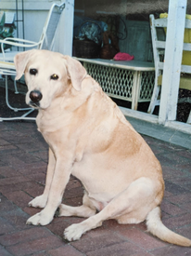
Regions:
<instances>
[{"instance_id":1,"label":"white wall behind the metal armchair at upper left","mask_svg":"<svg viewBox=\"0 0 191 256\"><path fill-rule=\"evenodd\" d=\"M55 50L71 55L72 47L72 29L73 29L73 8L74 0L24 0L24 38L27 40L32 40L38 42L42 34L43 27L45 24L45 19L48 13L48 10L53 3L61 4L62 2L66 3L64 9L64 16L60 20L60 26L57 33L57 48ZM19 8L19 19L22 20L21 12L22 2L18 0ZM16 1L15 0L1 0L1 10L16 10ZM64 25L63 25L64 24ZM17 25L17 24L16 24ZM22 34L22 22L18 23L19 34L15 33L15 37L23 38Z\"/></svg>"}]
</instances>

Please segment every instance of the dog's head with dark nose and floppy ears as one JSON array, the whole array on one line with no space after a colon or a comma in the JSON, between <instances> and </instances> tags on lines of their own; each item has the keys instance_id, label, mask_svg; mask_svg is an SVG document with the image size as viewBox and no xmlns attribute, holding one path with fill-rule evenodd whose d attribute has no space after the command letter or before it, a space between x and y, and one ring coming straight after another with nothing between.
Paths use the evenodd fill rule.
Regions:
<instances>
[{"instance_id":1,"label":"dog's head with dark nose and floppy ears","mask_svg":"<svg viewBox=\"0 0 191 256\"><path fill-rule=\"evenodd\" d=\"M28 87L26 103L46 109L53 99L69 87L80 91L86 71L83 65L69 56L48 50L29 50L16 55L16 80L22 74Z\"/></svg>"}]
</instances>

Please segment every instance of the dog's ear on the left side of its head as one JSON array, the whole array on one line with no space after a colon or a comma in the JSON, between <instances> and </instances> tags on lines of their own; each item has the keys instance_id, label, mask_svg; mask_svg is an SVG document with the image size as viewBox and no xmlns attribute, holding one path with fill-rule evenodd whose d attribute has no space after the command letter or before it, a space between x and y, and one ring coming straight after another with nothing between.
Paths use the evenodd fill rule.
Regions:
<instances>
[{"instance_id":1,"label":"dog's ear on the left side of its head","mask_svg":"<svg viewBox=\"0 0 191 256\"><path fill-rule=\"evenodd\" d=\"M35 49L27 50L18 53L14 58L14 63L17 71L17 76L15 77L16 80L19 80L19 78L22 76L22 74L25 71L26 65L28 61L30 60L30 56L35 51Z\"/></svg>"}]
</instances>

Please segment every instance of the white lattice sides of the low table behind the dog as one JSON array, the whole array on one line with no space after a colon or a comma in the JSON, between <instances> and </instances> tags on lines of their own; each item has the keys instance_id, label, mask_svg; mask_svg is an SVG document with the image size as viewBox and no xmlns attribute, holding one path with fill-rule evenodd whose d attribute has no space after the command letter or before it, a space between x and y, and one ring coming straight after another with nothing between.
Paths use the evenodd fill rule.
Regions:
<instances>
[{"instance_id":1,"label":"white lattice sides of the low table behind the dog","mask_svg":"<svg viewBox=\"0 0 191 256\"><path fill-rule=\"evenodd\" d=\"M99 65L90 62L83 63L90 74L111 97L132 101L134 86L134 71L117 67ZM141 73L141 88L138 101L150 101L154 87L155 73Z\"/></svg>"}]
</instances>

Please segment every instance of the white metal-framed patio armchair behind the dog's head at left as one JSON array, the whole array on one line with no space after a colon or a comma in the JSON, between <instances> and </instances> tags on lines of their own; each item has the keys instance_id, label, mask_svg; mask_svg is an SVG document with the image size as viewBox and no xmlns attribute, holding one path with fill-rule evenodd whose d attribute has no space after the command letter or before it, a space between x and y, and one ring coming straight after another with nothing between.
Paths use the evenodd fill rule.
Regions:
<instances>
[{"instance_id":1,"label":"white metal-framed patio armchair behind the dog's head at left","mask_svg":"<svg viewBox=\"0 0 191 256\"><path fill-rule=\"evenodd\" d=\"M37 48L37 49L48 49L53 50L55 37L57 33L57 25L61 17L61 13L65 8L65 3L60 5L53 4L50 8L47 18L45 20L45 26L43 28L43 33L41 34L39 42L32 42L29 40L24 40L20 38L5 38L4 40L0 40L2 54L0 54L0 74L6 75L6 105L11 110L18 111L26 111L27 113L18 117L0 117L0 121L6 120L19 120L19 119L29 119L35 120L34 117L26 117L31 114L32 108L16 108L12 107L8 101L8 84L7 84L7 75L16 75L15 66L13 64L14 57L19 51L5 51L4 44L11 45L12 47L25 47L25 48ZM15 83L15 93L18 93L17 85Z\"/></svg>"}]
</instances>

